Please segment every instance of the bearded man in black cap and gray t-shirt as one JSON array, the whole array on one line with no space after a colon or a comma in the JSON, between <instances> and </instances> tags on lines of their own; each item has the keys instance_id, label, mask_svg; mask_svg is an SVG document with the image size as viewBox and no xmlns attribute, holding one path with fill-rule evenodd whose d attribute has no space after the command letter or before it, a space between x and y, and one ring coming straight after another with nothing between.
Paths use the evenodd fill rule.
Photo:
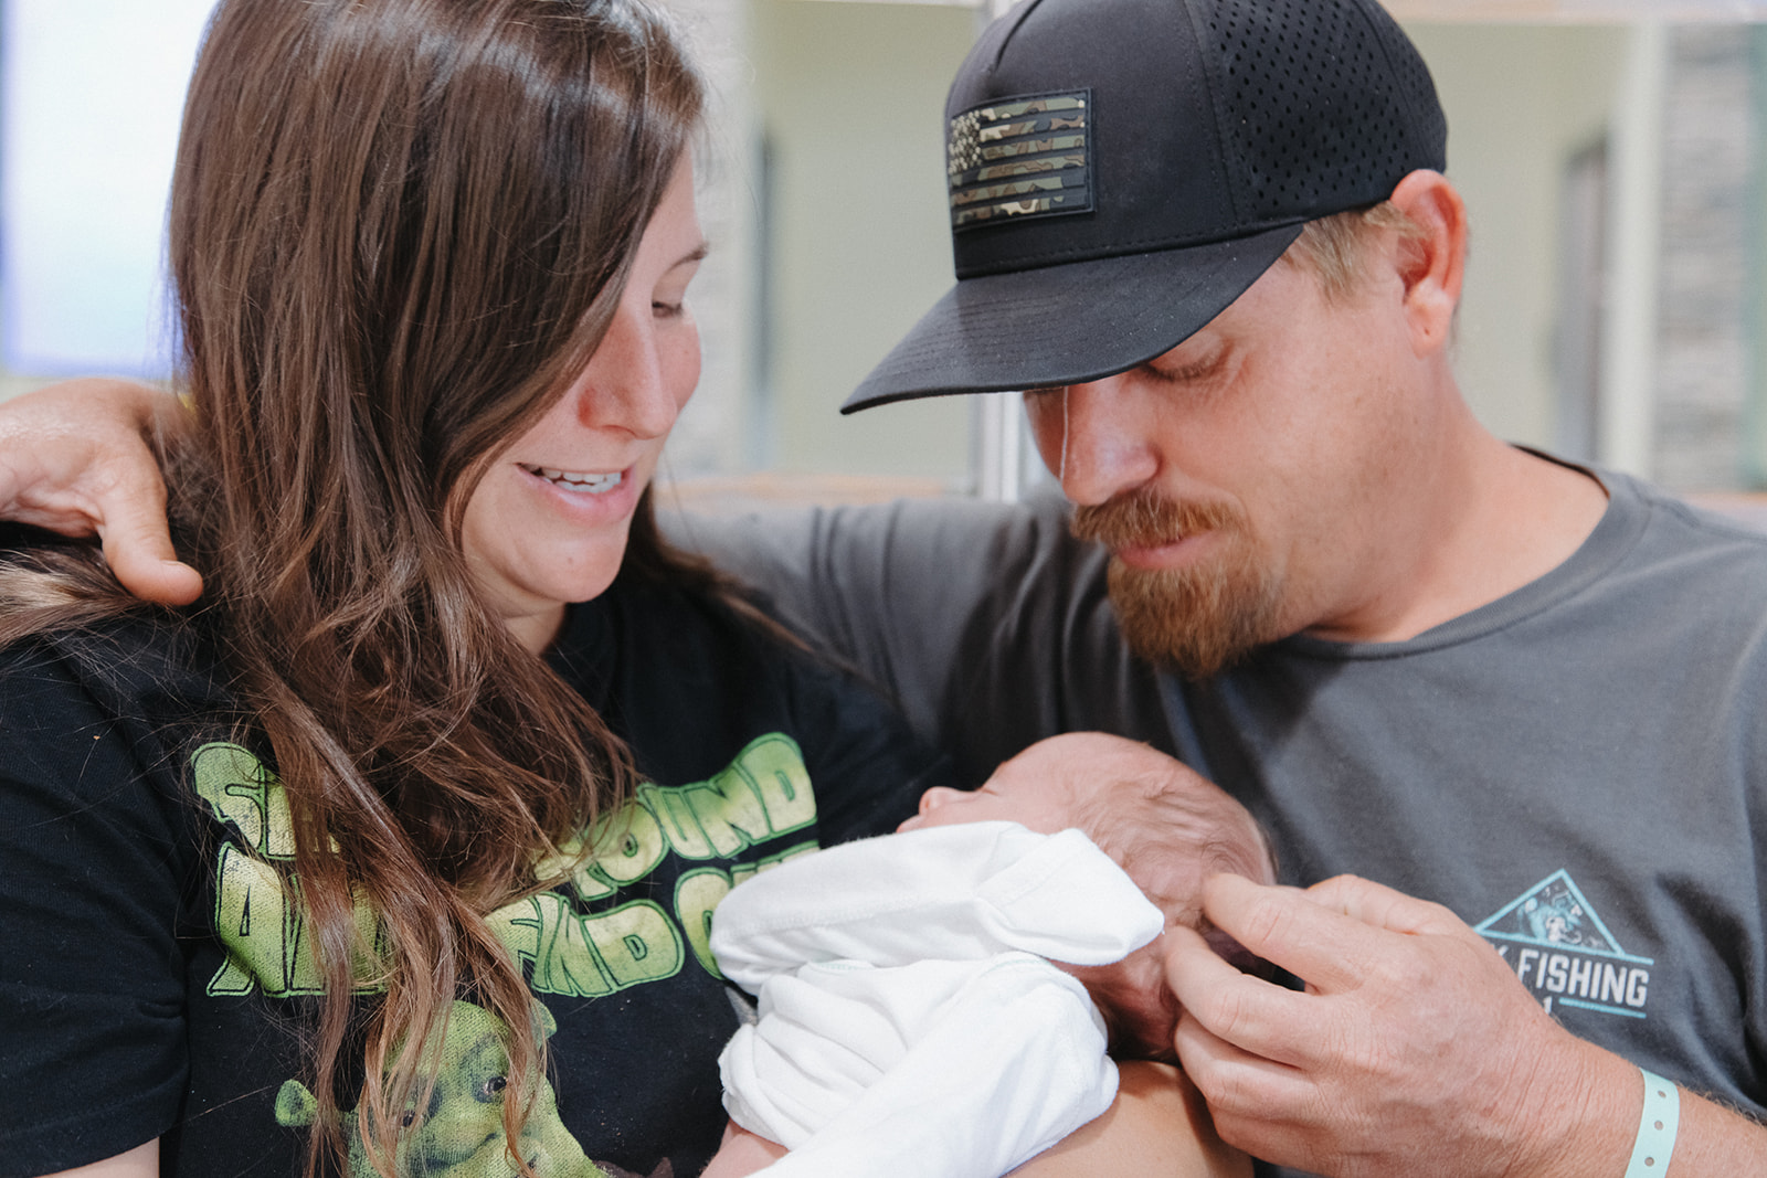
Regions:
<instances>
[{"instance_id":1,"label":"bearded man in black cap and gray t-shirt","mask_svg":"<svg viewBox=\"0 0 1767 1178\"><path fill-rule=\"evenodd\" d=\"M1304 991L1172 934L1230 1143L1323 1174L1767 1171L1723 1107L1767 1107L1767 540L1474 422L1467 219L1403 34L1373 0L1034 0L947 115L959 281L848 408L1032 389L1104 547L979 503L709 546L975 779L1119 731L1246 802L1286 880L1361 876L1209 888ZM16 510L108 514L120 574L194 593L163 535L122 542L122 487L57 495Z\"/></svg>"}]
</instances>

